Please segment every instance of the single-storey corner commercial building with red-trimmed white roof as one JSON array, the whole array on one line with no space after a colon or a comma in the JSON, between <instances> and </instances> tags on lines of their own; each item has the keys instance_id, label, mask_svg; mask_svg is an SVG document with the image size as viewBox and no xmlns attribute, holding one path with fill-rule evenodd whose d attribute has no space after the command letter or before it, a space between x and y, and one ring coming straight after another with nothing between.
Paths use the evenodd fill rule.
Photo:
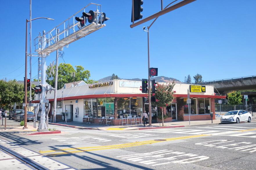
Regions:
<instances>
[{"instance_id":1,"label":"single-storey corner commercial building with red-trimmed white roof","mask_svg":"<svg viewBox=\"0 0 256 170\"><path fill-rule=\"evenodd\" d=\"M99 123L102 117L114 117L113 124L119 125L120 116L136 115L140 117L144 110L148 111L148 102L144 101L147 94L141 93L141 81L110 80L95 84L86 84L57 90L56 120L83 122L91 116L92 123ZM188 89L191 99L191 114L187 104ZM213 86L191 84L175 84L174 100L170 106L159 108L152 104L152 122L161 122L157 119L159 112L168 117L165 122L173 120L210 120L210 112L215 114L214 99L226 96L214 95ZM39 98L38 98L39 97ZM37 95L35 103L39 103ZM48 92L46 99L51 103L49 117L53 120L54 92ZM215 119L213 117L213 119ZM50 121L50 120L49 120Z\"/></svg>"}]
</instances>

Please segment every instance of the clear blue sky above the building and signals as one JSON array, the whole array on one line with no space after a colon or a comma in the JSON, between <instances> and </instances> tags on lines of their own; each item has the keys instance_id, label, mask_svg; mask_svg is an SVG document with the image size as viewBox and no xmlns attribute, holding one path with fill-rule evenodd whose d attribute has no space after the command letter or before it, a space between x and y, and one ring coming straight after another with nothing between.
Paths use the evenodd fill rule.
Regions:
<instances>
[{"instance_id":1,"label":"clear blue sky above the building and signals","mask_svg":"<svg viewBox=\"0 0 256 170\"><path fill-rule=\"evenodd\" d=\"M32 0L32 19L55 19L32 21L32 53L39 32L50 31L91 2L102 5L110 20L105 21L106 27L64 48L59 63L82 65L93 80L113 73L123 79L147 78L147 32L143 26L153 20L130 28L131 0ZM164 0L163 6L171 2ZM146 18L161 10L161 0L144 0L142 6ZM0 79L23 80L30 0L1 1L0 12ZM149 29L150 67L158 68L158 76L180 81L190 74L192 82L197 73L204 81L256 75L255 30L256 1L194 1L160 16ZM55 59L53 52L46 59L47 65ZM32 77L37 78L37 57L32 58L32 64Z\"/></svg>"}]
</instances>

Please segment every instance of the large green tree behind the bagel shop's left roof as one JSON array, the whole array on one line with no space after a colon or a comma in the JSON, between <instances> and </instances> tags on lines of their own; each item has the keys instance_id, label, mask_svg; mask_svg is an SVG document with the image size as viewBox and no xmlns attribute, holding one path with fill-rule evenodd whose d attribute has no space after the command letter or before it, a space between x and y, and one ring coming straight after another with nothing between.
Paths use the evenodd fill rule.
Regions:
<instances>
[{"instance_id":1,"label":"large green tree behind the bagel shop's left roof","mask_svg":"<svg viewBox=\"0 0 256 170\"><path fill-rule=\"evenodd\" d=\"M53 66L55 70L56 65ZM73 68L71 64L60 63L58 66L58 84L57 89L63 87L65 83L70 83L74 81L73 72L75 72L75 82L83 80L87 84L97 83L97 81L89 79L91 74L89 70L84 70L82 66L75 66L76 70ZM46 70L47 79L50 78L51 67L48 66ZM55 73L56 74L56 73ZM55 79L46 80L48 84L55 88Z\"/></svg>"}]
</instances>

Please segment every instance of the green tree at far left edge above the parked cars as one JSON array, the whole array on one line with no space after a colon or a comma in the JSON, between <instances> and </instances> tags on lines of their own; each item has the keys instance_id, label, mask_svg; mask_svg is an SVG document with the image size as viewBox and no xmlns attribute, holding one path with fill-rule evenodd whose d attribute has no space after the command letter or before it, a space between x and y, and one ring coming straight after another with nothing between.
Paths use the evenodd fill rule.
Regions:
<instances>
[{"instance_id":1,"label":"green tree at far left edge above the parked cars","mask_svg":"<svg viewBox=\"0 0 256 170\"><path fill-rule=\"evenodd\" d=\"M18 84L14 80L0 80L0 105L8 106L9 111L12 111L14 103L22 103L24 98L24 84Z\"/></svg>"}]
</instances>

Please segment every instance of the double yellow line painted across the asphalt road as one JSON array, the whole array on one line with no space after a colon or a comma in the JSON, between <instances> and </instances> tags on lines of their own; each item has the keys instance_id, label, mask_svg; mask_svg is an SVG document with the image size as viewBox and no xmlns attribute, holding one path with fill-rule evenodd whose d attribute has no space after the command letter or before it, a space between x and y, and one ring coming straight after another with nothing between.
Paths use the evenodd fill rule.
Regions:
<instances>
[{"instance_id":1,"label":"double yellow line painted across the asphalt road","mask_svg":"<svg viewBox=\"0 0 256 170\"><path fill-rule=\"evenodd\" d=\"M109 145L109 146L97 146L97 147L80 147L80 148L68 148L68 149L57 149L57 150L50 150L50 151L39 151L41 154L55 152L52 154L48 154L47 156L57 156L62 154L71 154L71 153L78 153L78 152L86 152L86 151L96 151L96 150L104 150L104 149L119 149L124 147L133 147L145 144L152 144L164 141L175 141L180 139L187 139L187 138L195 138L195 137L202 137L208 135L195 135L195 136L184 136L178 138L167 138L161 140L151 140L151 141L142 141L142 142L133 142L133 143L126 143L126 144L119 144L119 145Z\"/></svg>"}]
</instances>

